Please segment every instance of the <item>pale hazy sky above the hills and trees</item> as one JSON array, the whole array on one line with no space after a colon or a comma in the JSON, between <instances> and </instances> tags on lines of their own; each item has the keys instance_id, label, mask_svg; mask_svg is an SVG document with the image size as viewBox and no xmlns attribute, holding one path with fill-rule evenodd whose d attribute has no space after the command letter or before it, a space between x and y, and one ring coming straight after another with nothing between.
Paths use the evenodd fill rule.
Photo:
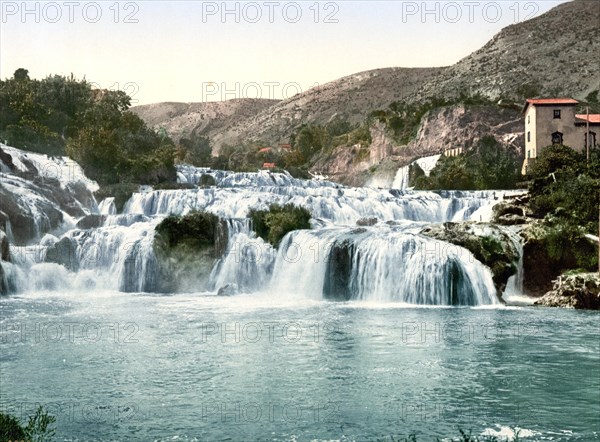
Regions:
<instances>
[{"instance_id":1,"label":"pale hazy sky above the hills and trees","mask_svg":"<svg viewBox=\"0 0 600 442\"><path fill-rule=\"evenodd\" d=\"M135 104L286 98L364 70L453 64L564 1L1 1L0 77L73 73Z\"/></svg>"}]
</instances>

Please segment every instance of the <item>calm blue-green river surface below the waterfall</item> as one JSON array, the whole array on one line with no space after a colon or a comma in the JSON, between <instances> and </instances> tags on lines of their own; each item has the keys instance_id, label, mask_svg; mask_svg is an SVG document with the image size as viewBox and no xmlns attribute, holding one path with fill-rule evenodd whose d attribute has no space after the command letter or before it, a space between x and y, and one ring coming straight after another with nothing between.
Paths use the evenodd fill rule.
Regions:
<instances>
[{"instance_id":1,"label":"calm blue-green river surface below the waterfall","mask_svg":"<svg viewBox=\"0 0 600 442\"><path fill-rule=\"evenodd\" d=\"M600 440L597 313L44 291L0 317L2 409L58 440Z\"/></svg>"}]
</instances>

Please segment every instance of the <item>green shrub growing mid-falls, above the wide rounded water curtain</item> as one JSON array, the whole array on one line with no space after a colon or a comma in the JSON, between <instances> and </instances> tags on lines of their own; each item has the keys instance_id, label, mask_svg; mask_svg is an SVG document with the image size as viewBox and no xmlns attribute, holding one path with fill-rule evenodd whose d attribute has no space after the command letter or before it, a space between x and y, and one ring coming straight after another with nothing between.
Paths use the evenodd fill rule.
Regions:
<instances>
[{"instance_id":1,"label":"green shrub growing mid-falls, above the wide rounded water curtain","mask_svg":"<svg viewBox=\"0 0 600 442\"><path fill-rule=\"evenodd\" d=\"M310 229L310 212L293 204L272 204L269 210L250 210L252 228L263 240L278 247L283 237L293 231Z\"/></svg>"}]
</instances>

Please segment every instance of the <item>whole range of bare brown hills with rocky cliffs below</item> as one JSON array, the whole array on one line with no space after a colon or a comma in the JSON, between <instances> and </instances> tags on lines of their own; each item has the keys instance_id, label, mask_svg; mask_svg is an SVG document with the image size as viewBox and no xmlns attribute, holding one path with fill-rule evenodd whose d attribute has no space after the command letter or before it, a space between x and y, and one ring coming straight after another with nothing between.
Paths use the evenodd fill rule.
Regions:
<instances>
[{"instance_id":1,"label":"whole range of bare brown hills with rocky cliffs below","mask_svg":"<svg viewBox=\"0 0 600 442\"><path fill-rule=\"evenodd\" d=\"M176 139L192 130L210 137L213 153L217 153L225 143L235 145L250 139L269 144L288 142L302 124L325 124L334 118L359 124L371 111L385 109L394 101L420 103L430 97L453 100L460 95L476 94L517 104L531 96L582 99L600 89L598 23L600 2L575 0L504 28L481 49L449 67L365 71L279 102L158 103L133 110L151 126L164 127ZM384 149L372 146L369 161L359 169L370 169L388 156L397 164L404 164L409 157L440 153L450 142L468 147L486 133L499 140L510 140L504 143L506 146L522 149L522 133L517 130L518 111L473 107L463 113L466 115L457 118L451 110L432 111L422 124L431 125L434 121L444 128L445 136L424 138L425 132L438 132L422 127L404 153L401 146ZM486 115L490 113L494 117L488 124ZM465 134L469 134L466 139ZM381 134L377 137L381 138ZM344 156L341 162L335 155L326 160L321 158L320 168L344 180L344 174L355 172L354 168L343 165L354 164L347 150L336 150Z\"/></svg>"}]
</instances>

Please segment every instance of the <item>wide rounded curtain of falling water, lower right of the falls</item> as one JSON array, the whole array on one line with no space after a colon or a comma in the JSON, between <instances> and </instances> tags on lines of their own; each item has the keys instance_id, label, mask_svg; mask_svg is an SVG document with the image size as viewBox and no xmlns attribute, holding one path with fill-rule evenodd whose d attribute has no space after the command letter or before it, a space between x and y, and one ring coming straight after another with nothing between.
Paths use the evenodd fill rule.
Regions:
<instances>
[{"instance_id":1,"label":"wide rounded curtain of falling water, lower right of the falls","mask_svg":"<svg viewBox=\"0 0 600 442\"><path fill-rule=\"evenodd\" d=\"M469 251L388 226L290 233L277 254L270 290L426 305L499 302L490 270Z\"/></svg>"}]
</instances>

